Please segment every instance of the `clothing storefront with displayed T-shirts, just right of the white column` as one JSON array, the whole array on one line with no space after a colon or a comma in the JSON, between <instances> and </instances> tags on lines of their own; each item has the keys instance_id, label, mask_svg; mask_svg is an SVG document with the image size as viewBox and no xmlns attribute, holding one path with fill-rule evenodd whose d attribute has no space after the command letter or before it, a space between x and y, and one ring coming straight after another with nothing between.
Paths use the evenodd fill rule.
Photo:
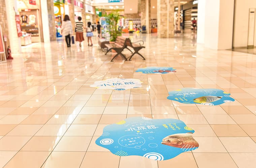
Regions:
<instances>
[{"instance_id":1,"label":"clothing storefront with displayed T-shirts, just right of the white column","mask_svg":"<svg viewBox=\"0 0 256 168\"><path fill-rule=\"evenodd\" d=\"M42 19L40 14L40 1L17 1L21 20L21 45L26 46L34 42L43 42Z\"/></svg>"}]
</instances>

